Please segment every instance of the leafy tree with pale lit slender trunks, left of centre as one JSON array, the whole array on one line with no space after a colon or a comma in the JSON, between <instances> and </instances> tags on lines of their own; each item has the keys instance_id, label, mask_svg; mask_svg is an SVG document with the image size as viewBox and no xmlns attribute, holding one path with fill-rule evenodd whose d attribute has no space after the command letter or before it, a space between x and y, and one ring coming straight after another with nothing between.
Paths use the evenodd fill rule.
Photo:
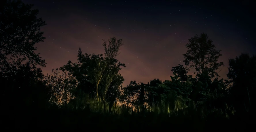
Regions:
<instances>
[{"instance_id":1,"label":"leafy tree with pale lit slender trunks, left of centre","mask_svg":"<svg viewBox=\"0 0 256 132\"><path fill-rule=\"evenodd\" d=\"M118 89L124 81L119 71L122 66L126 66L115 59L122 45L122 39L116 40L115 37L110 38L108 41L104 40L105 56L103 54L82 54L81 48L79 48L78 62L72 63L69 60L66 65L60 68L62 71L68 71L77 79L77 90L88 94L96 93L98 102L100 100L103 102L104 111L106 110L106 98L110 99L107 97L111 93L108 92L109 88L111 87L113 92L111 93L113 94L112 97L114 97L111 97L111 102L113 103L118 92L112 88Z\"/></svg>"}]
</instances>

